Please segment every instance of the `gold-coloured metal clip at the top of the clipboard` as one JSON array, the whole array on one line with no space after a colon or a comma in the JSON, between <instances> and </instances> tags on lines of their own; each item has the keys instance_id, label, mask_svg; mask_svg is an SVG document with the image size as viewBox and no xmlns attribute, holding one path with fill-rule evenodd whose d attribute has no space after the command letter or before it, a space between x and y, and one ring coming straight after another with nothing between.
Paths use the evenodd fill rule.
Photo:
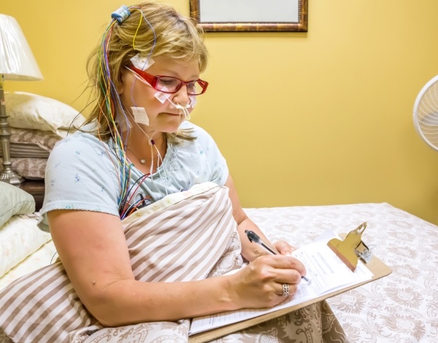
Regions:
<instances>
[{"instance_id":1,"label":"gold-coloured metal clip at the top of the clipboard","mask_svg":"<svg viewBox=\"0 0 438 343\"><path fill-rule=\"evenodd\" d=\"M327 243L327 246L336 253L338 258L341 258L352 272L355 271L359 258L367 263L373 257L368 246L362 241L362 233L366 228L367 223L362 223L355 230L348 232L345 239L334 238Z\"/></svg>"}]
</instances>

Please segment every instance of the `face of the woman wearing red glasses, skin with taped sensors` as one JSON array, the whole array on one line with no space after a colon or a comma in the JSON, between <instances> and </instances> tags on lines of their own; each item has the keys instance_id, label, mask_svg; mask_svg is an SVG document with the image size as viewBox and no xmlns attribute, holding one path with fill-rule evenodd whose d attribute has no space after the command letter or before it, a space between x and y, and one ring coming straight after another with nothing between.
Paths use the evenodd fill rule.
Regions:
<instances>
[{"instance_id":1,"label":"face of the woman wearing red glasses, skin with taped sensors","mask_svg":"<svg viewBox=\"0 0 438 343\"><path fill-rule=\"evenodd\" d=\"M155 63L145 70L153 76L173 76L185 81L197 80L199 78L197 59L190 62L182 62L170 57L160 56L154 57L153 61ZM151 85L147 84L128 69L123 71L122 84L118 88L118 92L125 109L129 111L131 115L131 107L144 108L149 118L149 125L142 125L142 129L145 131L176 132L179 125L185 119L184 111L176 109L168 100L165 100L162 104L155 97L158 90L155 90ZM185 85L182 85L178 92L167 95L170 95L169 99L174 104L186 106L186 104L190 104L191 102ZM191 112L192 108L188 110ZM132 117L130 120L134 121L134 118Z\"/></svg>"}]
</instances>

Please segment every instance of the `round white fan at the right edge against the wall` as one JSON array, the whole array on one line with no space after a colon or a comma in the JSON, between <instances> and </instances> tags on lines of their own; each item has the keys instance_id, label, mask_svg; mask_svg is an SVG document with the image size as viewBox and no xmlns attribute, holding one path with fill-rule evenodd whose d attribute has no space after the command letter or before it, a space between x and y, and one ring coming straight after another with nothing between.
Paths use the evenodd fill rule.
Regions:
<instances>
[{"instance_id":1,"label":"round white fan at the right edge against the wall","mask_svg":"<svg viewBox=\"0 0 438 343\"><path fill-rule=\"evenodd\" d=\"M418 93L413 105L413 125L427 145L438 151L438 75Z\"/></svg>"}]
</instances>

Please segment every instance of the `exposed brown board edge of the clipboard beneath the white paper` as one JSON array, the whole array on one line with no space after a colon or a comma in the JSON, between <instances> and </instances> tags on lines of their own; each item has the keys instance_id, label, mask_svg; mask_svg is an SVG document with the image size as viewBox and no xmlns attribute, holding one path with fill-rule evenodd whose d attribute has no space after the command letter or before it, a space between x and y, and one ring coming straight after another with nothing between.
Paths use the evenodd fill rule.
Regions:
<instances>
[{"instance_id":1,"label":"exposed brown board edge of the clipboard beneath the white paper","mask_svg":"<svg viewBox=\"0 0 438 343\"><path fill-rule=\"evenodd\" d=\"M374 274L374 276L372 276L371 279L368 279L367 281L364 281L361 283L356 283L353 286L347 286L345 288L335 290L334 292L321 295L320 297L315 297L311 300L301 302L300 304L295 304L294 306L287 307L285 309L279 309L278 311L273 311L273 312L268 313L268 314L256 316L254 318L250 318L250 319L247 319L245 321L240 321L238 323L233 323L230 325L221 326L219 328L214 328L212 330L196 333L194 335L189 336L189 342L190 343L209 342L212 339L217 339L219 337L229 335L233 332L237 332L237 331L243 330L245 328L249 328L253 325L263 323L264 321L268 321L270 319L277 318L278 316L288 314L289 312L296 311L297 309L301 309L302 307L306 307L310 304L315 304L315 302L320 302L322 300L326 300L329 297L334 297L335 295L344 293L347 290L362 286L365 283L369 283L369 282L375 281L377 279L381 279L383 276L388 276L392 272L392 269L390 269L390 267L388 267L388 265L385 265L385 263L383 263L381 260L376 258L376 256L374 256L374 255L371 257L369 262L367 262L367 264L365 264L365 266Z\"/></svg>"}]
</instances>

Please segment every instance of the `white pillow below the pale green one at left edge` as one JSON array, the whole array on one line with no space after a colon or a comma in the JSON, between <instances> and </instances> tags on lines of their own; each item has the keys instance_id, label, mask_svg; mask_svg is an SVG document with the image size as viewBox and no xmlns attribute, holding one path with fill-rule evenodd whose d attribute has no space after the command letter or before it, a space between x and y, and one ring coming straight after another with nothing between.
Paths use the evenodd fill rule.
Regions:
<instances>
[{"instance_id":1,"label":"white pillow below the pale green one at left edge","mask_svg":"<svg viewBox=\"0 0 438 343\"><path fill-rule=\"evenodd\" d=\"M13 216L0 226L0 276L50 241L36 226L36 215Z\"/></svg>"}]
</instances>

